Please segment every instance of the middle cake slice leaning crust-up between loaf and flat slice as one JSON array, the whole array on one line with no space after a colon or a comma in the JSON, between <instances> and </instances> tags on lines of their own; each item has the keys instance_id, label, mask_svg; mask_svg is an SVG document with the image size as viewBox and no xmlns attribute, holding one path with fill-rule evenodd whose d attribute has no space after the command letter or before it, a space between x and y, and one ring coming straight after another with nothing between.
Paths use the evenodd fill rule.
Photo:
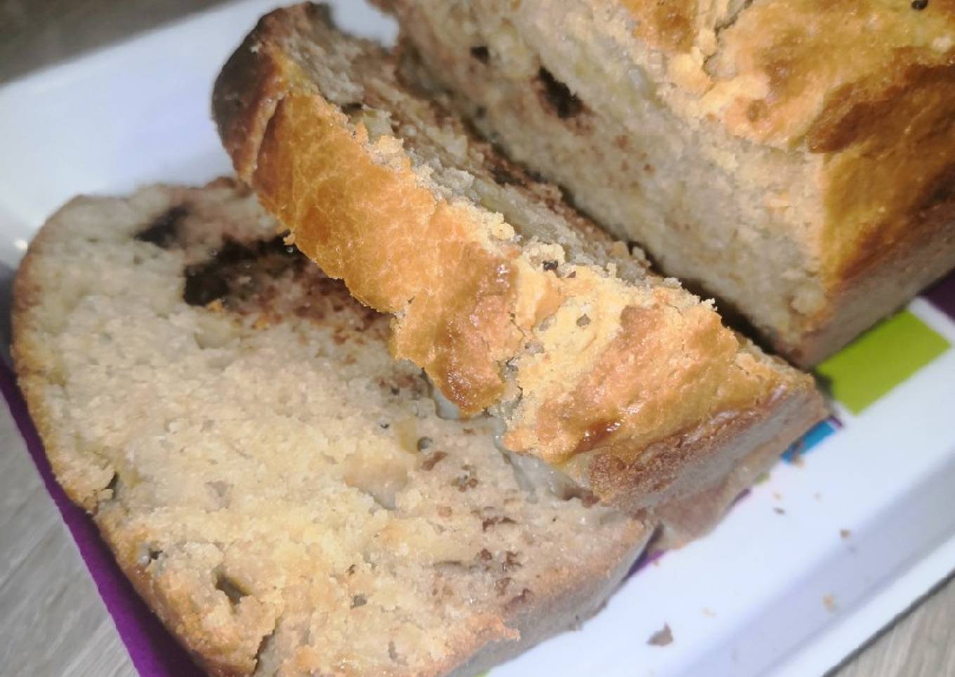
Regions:
<instances>
[{"instance_id":1,"label":"middle cake slice leaning crust-up between loaf and flat slice","mask_svg":"<svg viewBox=\"0 0 955 677\"><path fill-rule=\"evenodd\" d=\"M823 414L809 376L649 272L321 7L266 15L213 110L288 242L393 315L395 356L606 504L699 533Z\"/></svg>"}]
</instances>

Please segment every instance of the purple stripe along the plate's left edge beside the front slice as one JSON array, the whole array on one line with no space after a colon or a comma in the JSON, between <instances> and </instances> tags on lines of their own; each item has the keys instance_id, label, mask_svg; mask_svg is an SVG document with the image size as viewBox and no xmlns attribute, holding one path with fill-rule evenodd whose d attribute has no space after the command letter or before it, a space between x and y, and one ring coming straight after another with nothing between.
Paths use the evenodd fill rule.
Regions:
<instances>
[{"instance_id":1,"label":"purple stripe along the plate's left edge beside the front slice","mask_svg":"<svg viewBox=\"0 0 955 677\"><path fill-rule=\"evenodd\" d=\"M76 507L53 479L50 462L43 453L43 444L33 427L27 405L16 387L10 368L3 360L0 360L0 391L3 391L11 416L23 435L43 484L73 534L79 554L83 556L96 582L99 596L113 616L119 637L126 645L138 673L143 677L202 675L202 671L193 664L172 635L166 632L159 619L139 598L133 585L123 576L110 549L100 538L93 519Z\"/></svg>"}]
</instances>

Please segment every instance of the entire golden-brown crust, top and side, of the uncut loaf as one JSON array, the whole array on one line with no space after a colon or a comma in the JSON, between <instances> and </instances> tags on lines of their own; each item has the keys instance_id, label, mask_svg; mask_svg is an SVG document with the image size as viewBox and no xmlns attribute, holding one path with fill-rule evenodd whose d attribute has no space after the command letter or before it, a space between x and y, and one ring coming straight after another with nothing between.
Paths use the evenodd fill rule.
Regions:
<instances>
[{"instance_id":1,"label":"entire golden-brown crust, top and side, of the uncut loaf","mask_svg":"<svg viewBox=\"0 0 955 677\"><path fill-rule=\"evenodd\" d=\"M951 240L938 217L955 185L951 0L619 1L671 59L678 111L809 161L822 220L793 237L816 253L826 303L777 349L813 365L952 266L950 245L930 248Z\"/></svg>"}]
</instances>

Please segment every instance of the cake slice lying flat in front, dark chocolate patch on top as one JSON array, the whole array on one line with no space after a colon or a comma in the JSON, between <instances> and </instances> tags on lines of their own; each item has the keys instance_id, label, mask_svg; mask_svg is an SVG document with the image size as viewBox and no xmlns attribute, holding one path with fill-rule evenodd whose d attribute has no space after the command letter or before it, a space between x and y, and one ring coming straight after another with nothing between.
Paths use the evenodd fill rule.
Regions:
<instances>
[{"instance_id":1,"label":"cake slice lying flat in front, dark chocolate patch on top","mask_svg":"<svg viewBox=\"0 0 955 677\"><path fill-rule=\"evenodd\" d=\"M593 614L651 529L435 415L388 321L232 180L77 198L13 357L53 471L216 675L473 674Z\"/></svg>"}]
</instances>

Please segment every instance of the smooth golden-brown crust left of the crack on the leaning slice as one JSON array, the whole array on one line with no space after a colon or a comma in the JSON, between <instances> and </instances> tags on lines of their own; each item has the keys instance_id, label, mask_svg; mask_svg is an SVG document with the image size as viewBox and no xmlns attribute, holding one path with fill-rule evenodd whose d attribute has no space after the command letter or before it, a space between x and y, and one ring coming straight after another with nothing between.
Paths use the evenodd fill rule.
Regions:
<instances>
[{"instance_id":1,"label":"smooth golden-brown crust left of the crack on the leaning slice","mask_svg":"<svg viewBox=\"0 0 955 677\"><path fill-rule=\"evenodd\" d=\"M345 130L339 109L317 96L286 95L303 75L272 43L286 32L282 18L308 20L314 11L308 5L297 10L265 16L223 68L213 111L226 150L265 206L294 224L302 251L331 277L344 279L362 303L405 313L394 336L396 353L427 366L463 412L477 413L503 390L493 359L497 344L515 340L500 335L509 327L502 314L509 264L467 242L466 217L454 207L409 189L410 167L394 172L375 164ZM329 164L332 157L337 163ZM296 182L304 177L308 185ZM303 192L314 211L301 201ZM375 204L370 195L382 199ZM377 218L368 218L369 208ZM393 222L392 212L405 219ZM461 261L476 263L468 267L468 279L461 279ZM435 279L450 284L435 289L427 284ZM434 312L442 316L438 323ZM466 349L458 348L461 342Z\"/></svg>"}]
</instances>

